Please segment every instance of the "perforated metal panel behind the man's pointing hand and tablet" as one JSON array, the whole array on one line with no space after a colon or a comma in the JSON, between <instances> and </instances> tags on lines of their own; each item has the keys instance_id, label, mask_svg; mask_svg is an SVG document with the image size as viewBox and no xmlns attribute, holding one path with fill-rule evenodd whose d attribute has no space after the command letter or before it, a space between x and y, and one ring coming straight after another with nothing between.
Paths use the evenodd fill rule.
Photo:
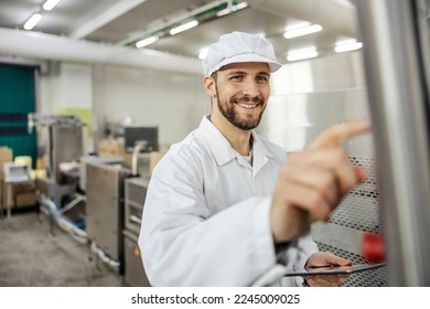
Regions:
<instances>
[{"instance_id":1,"label":"perforated metal panel behind the man's pointing hand and tablet","mask_svg":"<svg viewBox=\"0 0 430 309\"><path fill-rule=\"evenodd\" d=\"M320 251L350 258L354 264L367 264L361 255L364 233L381 234L378 182L374 159L350 158L353 164L364 167L366 182L352 190L332 213L329 223L313 231ZM343 286L388 286L386 267L351 275Z\"/></svg>"}]
</instances>

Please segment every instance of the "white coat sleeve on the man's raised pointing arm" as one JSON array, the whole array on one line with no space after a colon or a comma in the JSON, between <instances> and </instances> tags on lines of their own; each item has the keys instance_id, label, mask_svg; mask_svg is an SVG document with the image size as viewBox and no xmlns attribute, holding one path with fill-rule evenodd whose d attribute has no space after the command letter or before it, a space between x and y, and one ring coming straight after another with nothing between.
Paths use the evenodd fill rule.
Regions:
<instances>
[{"instance_id":1,"label":"white coat sleeve on the man's raised pointing arm","mask_svg":"<svg viewBox=\"0 0 430 309\"><path fill-rule=\"evenodd\" d=\"M153 286L249 286L276 264L271 198L212 215L196 164L164 157L153 171L139 247Z\"/></svg>"}]
</instances>

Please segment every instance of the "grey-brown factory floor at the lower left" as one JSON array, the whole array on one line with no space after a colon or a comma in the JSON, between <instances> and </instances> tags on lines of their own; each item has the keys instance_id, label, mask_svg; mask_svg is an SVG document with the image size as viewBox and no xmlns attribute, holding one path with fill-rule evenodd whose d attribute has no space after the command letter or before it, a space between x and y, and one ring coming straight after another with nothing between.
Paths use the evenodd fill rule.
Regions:
<instances>
[{"instance_id":1,"label":"grey-brown factory floor at the lower left","mask_svg":"<svg viewBox=\"0 0 430 309\"><path fill-rule=\"evenodd\" d=\"M0 287L121 287L123 277L36 210L0 219Z\"/></svg>"}]
</instances>

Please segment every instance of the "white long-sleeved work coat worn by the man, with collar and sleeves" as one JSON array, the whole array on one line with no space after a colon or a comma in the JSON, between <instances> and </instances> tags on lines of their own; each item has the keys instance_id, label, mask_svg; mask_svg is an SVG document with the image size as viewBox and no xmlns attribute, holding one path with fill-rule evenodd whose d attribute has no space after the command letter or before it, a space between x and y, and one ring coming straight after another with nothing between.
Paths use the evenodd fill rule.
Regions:
<instances>
[{"instance_id":1,"label":"white long-sleeved work coat worn by the man, with collar and sleeves","mask_svg":"<svg viewBox=\"0 0 430 309\"><path fill-rule=\"evenodd\" d=\"M151 285L251 286L270 270L277 274L269 207L287 156L255 131L252 137L251 167L205 116L159 161L139 236ZM304 255L288 249L288 265L304 265L318 249L310 236L299 246ZM271 277L277 285L279 274Z\"/></svg>"}]
</instances>

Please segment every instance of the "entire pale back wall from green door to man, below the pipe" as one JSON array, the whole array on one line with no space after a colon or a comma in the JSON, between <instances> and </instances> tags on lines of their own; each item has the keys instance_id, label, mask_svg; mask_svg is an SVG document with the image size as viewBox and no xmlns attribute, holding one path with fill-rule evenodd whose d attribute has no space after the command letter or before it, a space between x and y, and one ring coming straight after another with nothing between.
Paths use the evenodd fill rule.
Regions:
<instances>
[{"instance_id":1,"label":"entire pale back wall from green door to man, below the pipe","mask_svg":"<svg viewBox=\"0 0 430 309\"><path fill-rule=\"evenodd\" d=\"M128 117L132 125L159 126L160 145L165 148L196 128L209 111L202 77L114 65L51 63L49 74L40 77L39 113L90 107L95 142L105 121L123 122Z\"/></svg>"}]
</instances>

